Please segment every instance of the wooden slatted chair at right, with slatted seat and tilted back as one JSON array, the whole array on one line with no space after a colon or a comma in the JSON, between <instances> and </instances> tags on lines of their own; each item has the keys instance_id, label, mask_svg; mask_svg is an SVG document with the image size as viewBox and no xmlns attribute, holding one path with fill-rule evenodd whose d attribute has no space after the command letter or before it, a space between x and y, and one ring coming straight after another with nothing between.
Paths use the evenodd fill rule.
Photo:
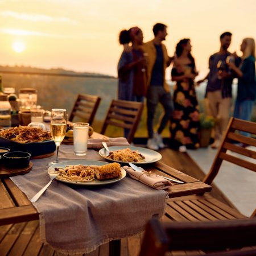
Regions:
<instances>
[{"instance_id":1,"label":"wooden slatted chair at right, with slatted seat and tilted back","mask_svg":"<svg viewBox=\"0 0 256 256\"><path fill-rule=\"evenodd\" d=\"M244 167L248 170L254 172L256 171L256 152L250 150L249 148L243 148L234 143L245 143L249 146L255 147L256 138L245 137L240 133L237 133L237 131L245 131L255 135L256 123L235 118L230 119L212 167L210 168L208 175L206 175L203 179L204 183L212 183L214 177L220 170L223 160L236 164L237 166ZM231 152L234 152L235 154L230 154ZM246 156L247 158L244 158L243 156ZM228 201L228 204L222 203L221 199L212 197L210 192L205 193L204 195L193 195L169 199L166 217L171 221L216 221L246 218L246 216L241 214L232 205L232 203L225 198L225 195L222 197L224 197L224 201ZM255 216L256 209L251 217Z\"/></svg>"}]
</instances>

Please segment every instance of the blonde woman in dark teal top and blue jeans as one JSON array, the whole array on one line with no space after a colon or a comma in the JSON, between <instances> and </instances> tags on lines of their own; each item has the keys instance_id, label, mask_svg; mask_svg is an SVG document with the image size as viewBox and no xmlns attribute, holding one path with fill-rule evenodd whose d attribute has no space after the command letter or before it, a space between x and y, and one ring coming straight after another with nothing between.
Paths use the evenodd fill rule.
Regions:
<instances>
[{"instance_id":1,"label":"blonde woman in dark teal top and blue jeans","mask_svg":"<svg viewBox=\"0 0 256 256\"><path fill-rule=\"evenodd\" d=\"M253 109L256 97L254 39L243 39L240 50L243 55L241 57L239 67L236 67L234 63L228 63L229 68L233 69L238 77L237 100L234 109L234 117L250 121L251 110Z\"/></svg>"}]
</instances>

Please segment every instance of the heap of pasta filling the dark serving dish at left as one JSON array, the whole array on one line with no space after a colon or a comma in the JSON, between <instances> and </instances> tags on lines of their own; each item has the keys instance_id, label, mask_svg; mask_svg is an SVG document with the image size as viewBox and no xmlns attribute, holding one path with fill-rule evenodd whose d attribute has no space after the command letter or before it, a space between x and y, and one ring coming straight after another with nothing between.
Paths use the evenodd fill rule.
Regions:
<instances>
[{"instance_id":1,"label":"heap of pasta filling the dark serving dish at left","mask_svg":"<svg viewBox=\"0 0 256 256\"><path fill-rule=\"evenodd\" d=\"M42 128L18 126L0 130L0 136L19 143L42 142L52 139L49 131Z\"/></svg>"}]
</instances>

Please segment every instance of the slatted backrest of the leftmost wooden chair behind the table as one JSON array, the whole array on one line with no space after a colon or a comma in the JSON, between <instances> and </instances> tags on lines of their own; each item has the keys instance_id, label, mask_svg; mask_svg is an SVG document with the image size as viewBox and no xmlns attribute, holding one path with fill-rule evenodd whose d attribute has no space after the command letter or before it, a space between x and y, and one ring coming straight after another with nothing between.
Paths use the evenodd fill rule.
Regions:
<instances>
[{"instance_id":1,"label":"slatted backrest of the leftmost wooden chair behind the table","mask_svg":"<svg viewBox=\"0 0 256 256\"><path fill-rule=\"evenodd\" d=\"M98 96L78 94L76 102L69 116L69 121L72 122L74 117L79 117L92 125L100 102L101 98Z\"/></svg>"}]
</instances>

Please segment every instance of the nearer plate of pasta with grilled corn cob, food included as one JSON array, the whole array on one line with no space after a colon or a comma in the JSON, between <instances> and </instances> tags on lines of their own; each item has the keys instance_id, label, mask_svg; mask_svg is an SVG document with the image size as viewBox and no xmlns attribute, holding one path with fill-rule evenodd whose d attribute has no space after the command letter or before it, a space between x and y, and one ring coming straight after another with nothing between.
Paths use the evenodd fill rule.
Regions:
<instances>
[{"instance_id":1,"label":"nearer plate of pasta with grilled corn cob, food included","mask_svg":"<svg viewBox=\"0 0 256 256\"><path fill-rule=\"evenodd\" d=\"M122 180L126 171L119 163L97 160L69 160L53 164L48 174L59 174L55 179L76 185L105 185Z\"/></svg>"}]
</instances>

